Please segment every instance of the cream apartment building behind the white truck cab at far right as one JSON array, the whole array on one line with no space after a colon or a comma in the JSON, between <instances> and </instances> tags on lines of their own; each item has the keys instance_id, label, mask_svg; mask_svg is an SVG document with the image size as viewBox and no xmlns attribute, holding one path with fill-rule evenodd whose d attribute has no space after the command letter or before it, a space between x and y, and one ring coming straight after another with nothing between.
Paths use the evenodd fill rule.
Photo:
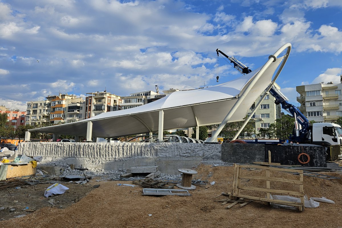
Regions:
<instances>
[{"instance_id":1,"label":"cream apartment building behind the white truck cab at far right","mask_svg":"<svg viewBox=\"0 0 342 228\"><path fill-rule=\"evenodd\" d=\"M299 110L308 120L333 122L342 116L342 84L333 82L296 86Z\"/></svg>"}]
</instances>

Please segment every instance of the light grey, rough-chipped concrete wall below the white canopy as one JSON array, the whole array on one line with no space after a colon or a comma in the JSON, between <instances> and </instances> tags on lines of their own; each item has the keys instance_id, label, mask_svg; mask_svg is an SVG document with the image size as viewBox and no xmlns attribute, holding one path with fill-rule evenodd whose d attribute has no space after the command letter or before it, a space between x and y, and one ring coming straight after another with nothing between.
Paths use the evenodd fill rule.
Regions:
<instances>
[{"instance_id":1,"label":"light grey, rough-chipped concrete wall below the white canopy","mask_svg":"<svg viewBox=\"0 0 342 228\"><path fill-rule=\"evenodd\" d=\"M43 156L43 162L63 161L105 170L158 165L161 172L179 174L202 159L221 159L221 145L198 143L21 143L19 154ZM42 162L42 163L43 163Z\"/></svg>"}]
</instances>

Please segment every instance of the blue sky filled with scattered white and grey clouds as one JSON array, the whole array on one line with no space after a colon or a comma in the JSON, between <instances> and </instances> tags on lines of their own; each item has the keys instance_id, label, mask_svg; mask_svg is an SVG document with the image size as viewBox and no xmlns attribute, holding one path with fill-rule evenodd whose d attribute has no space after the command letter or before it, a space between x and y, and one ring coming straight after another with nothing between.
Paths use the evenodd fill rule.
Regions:
<instances>
[{"instance_id":1,"label":"blue sky filled with scattered white and grey clouds","mask_svg":"<svg viewBox=\"0 0 342 228\"><path fill-rule=\"evenodd\" d=\"M277 83L340 83L341 0L0 0L0 105L26 111L48 95L195 89L292 44ZM220 82L216 82L219 76Z\"/></svg>"}]
</instances>

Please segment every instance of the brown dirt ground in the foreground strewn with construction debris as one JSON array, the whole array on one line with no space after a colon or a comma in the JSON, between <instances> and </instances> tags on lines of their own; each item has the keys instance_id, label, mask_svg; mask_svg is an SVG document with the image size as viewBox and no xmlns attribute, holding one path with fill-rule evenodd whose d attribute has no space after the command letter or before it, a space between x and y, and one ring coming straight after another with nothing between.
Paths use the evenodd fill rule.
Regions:
<instances>
[{"instance_id":1,"label":"brown dirt ground in the foreground strewn with construction debris","mask_svg":"<svg viewBox=\"0 0 342 228\"><path fill-rule=\"evenodd\" d=\"M275 209L253 201L245 206L235 205L230 209L214 200L226 197L216 196L231 192L233 167L201 164L196 169L194 179L202 178L215 184L209 188L197 186L190 191L192 196L143 196L142 187L118 186L117 183L96 182L93 179L85 185L63 183L70 189L62 195L44 198L44 188L50 184L40 184L22 189L0 191L1 206L13 206L19 213L0 211L0 227L335 227L342 228L342 180L325 180L304 176L304 193L308 197L326 197L335 204L321 202L317 208L298 210ZM255 174L259 170L244 171ZM341 172L326 172L342 177ZM279 177L292 174L279 173ZM293 177L291 177L293 178ZM100 187L92 188L99 184ZM254 185L246 180L246 186ZM207 185L209 186L209 185ZM277 186L284 189L293 186ZM177 187L175 187L176 189ZM54 204L49 200L54 199ZM18 202L14 202L17 200ZM0 206L0 207L1 207ZM36 210L22 211L26 206ZM13 218L26 214L24 217Z\"/></svg>"}]
</instances>

